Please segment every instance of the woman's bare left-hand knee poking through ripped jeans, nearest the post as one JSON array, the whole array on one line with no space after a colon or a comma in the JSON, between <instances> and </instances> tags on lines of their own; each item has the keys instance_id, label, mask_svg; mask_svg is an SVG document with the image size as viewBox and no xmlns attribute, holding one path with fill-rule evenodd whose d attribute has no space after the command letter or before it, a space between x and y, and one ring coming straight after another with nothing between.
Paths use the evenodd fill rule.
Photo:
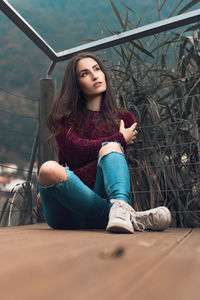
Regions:
<instances>
[{"instance_id":1,"label":"woman's bare left-hand knee poking through ripped jeans, nearest the post","mask_svg":"<svg viewBox=\"0 0 200 300\"><path fill-rule=\"evenodd\" d=\"M47 161L41 166L38 181L42 186L48 186L61 180L67 180L67 173L59 163Z\"/></svg>"}]
</instances>

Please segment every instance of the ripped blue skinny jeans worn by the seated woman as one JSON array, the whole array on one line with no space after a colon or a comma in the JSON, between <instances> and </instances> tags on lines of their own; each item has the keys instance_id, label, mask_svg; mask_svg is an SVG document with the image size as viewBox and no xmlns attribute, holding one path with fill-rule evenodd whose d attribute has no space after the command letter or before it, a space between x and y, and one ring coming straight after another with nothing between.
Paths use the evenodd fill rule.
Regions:
<instances>
[{"instance_id":1,"label":"ripped blue skinny jeans worn by the seated woman","mask_svg":"<svg viewBox=\"0 0 200 300\"><path fill-rule=\"evenodd\" d=\"M108 223L110 199L131 204L130 176L124 154L110 152L99 158L95 187L88 188L65 168L67 180L39 184L44 218L54 229L103 229Z\"/></svg>"}]
</instances>

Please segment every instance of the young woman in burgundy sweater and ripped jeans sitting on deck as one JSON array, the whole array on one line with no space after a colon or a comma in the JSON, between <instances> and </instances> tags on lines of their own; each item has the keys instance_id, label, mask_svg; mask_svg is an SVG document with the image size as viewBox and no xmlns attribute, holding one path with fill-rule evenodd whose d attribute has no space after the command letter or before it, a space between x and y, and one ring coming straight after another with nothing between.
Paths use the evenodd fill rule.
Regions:
<instances>
[{"instance_id":1,"label":"young woman in burgundy sweater and ripped jeans sitting on deck","mask_svg":"<svg viewBox=\"0 0 200 300\"><path fill-rule=\"evenodd\" d=\"M124 156L136 138L136 120L117 108L106 70L92 53L67 64L48 116L58 161L45 162L39 192L46 222L54 229L163 230L166 207L136 212Z\"/></svg>"}]
</instances>

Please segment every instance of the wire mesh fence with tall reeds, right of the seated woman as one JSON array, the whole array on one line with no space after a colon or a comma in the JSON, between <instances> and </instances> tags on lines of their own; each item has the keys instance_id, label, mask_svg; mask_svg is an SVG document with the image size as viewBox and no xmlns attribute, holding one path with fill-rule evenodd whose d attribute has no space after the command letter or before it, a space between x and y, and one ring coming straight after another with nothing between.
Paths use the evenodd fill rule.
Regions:
<instances>
[{"instance_id":1,"label":"wire mesh fence with tall reeds, right of the seated woman","mask_svg":"<svg viewBox=\"0 0 200 300\"><path fill-rule=\"evenodd\" d=\"M166 205L178 227L200 225L198 30L190 36L174 33L178 38L172 35L170 43L167 35L161 42L154 37L157 47L141 39L112 50L118 60L111 66L119 105L138 122L137 139L127 152L133 205L138 210ZM169 45L176 47L174 59Z\"/></svg>"}]
</instances>

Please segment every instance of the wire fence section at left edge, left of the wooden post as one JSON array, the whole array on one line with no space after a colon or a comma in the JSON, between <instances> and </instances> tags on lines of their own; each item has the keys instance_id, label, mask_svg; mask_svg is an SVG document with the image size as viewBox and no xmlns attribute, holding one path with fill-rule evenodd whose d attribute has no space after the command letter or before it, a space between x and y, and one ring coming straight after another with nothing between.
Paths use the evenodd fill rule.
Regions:
<instances>
[{"instance_id":1,"label":"wire fence section at left edge, left of the wooden post","mask_svg":"<svg viewBox=\"0 0 200 300\"><path fill-rule=\"evenodd\" d=\"M0 88L0 226L37 222L37 162L29 176L37 111L38 100Z\"/></svg>"}]
</instances>

